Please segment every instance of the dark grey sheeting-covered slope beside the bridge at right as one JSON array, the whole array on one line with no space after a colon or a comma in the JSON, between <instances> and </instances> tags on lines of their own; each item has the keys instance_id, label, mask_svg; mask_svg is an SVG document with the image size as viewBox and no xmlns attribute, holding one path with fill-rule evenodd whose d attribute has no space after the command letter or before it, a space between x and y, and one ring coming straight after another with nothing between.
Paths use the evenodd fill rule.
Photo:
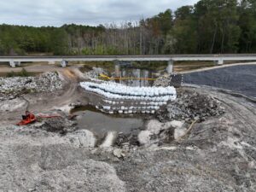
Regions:
<instances>
[{"instance_id":1,"label":"dark grey sheeting-covered slope beside the bridge at right","mask_svg":"<svg viewBox=\"0 0 256 192\"><path fill-rule=\"evenodd\" d=\"M222 67L183 75L184 84L199 84L256 97L256 65Z\"/></svg>"}]
</instances>

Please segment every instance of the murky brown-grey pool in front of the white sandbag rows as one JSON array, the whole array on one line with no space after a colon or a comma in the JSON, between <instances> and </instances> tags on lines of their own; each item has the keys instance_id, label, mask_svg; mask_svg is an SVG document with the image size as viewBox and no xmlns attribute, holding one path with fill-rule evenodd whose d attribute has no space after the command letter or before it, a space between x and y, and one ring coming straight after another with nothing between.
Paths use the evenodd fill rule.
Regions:
<instances>
[{"instance_id":1,"label":"murky brown-grey pool in front of the white sandbag rows","mask_svg":"<svg viewBox=\"0 0 256 192\"><path fill-rule=\"evenodd\" d=\"M78 115L79 129L90 130L98 137L103 137L108 131L129 133L144 125L143 119L108 115L89 106L77 108L72 113Z\"/></svg>"}]
</instances>

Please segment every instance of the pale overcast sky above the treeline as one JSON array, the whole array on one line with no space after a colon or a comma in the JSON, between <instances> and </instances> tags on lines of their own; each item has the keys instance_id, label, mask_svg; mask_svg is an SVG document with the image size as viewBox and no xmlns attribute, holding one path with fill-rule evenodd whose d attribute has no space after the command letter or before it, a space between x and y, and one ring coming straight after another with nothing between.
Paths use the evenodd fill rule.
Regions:
<instances>
[{"instance_id":1,"label":"pale overcast sky above the treeline","mask_svg":"<svg viewBox=\"0 0 256 192\"><path fill-rule=\"evenodd\" d=\"M0 0L0 24L99 25L139 20L198 0Z\"/></svg>"}]
</instances>

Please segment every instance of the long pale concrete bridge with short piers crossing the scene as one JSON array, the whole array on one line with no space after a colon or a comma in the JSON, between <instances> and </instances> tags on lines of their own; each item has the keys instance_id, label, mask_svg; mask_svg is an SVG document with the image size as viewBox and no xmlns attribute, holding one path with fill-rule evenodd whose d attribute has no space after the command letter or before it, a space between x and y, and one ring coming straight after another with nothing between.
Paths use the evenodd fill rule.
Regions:
<instances>
[{"instance_id":1,"label":"long pale concrete bridge with short piers crossing the scene","mask_svg":"<svg viewBox=\"0 0 256 192\"><path fill-rule=\"evenodd\" d=\"M224 61L256 61L256 54L236 55L75 55L75 56L0 56L0 62L9 62L11 67L20 66L21 62L60 62L66 67L69 61L114 61L116 70L119 61L167 61L167 72L172 73L174 61L214 61L223 65Z\"/></svg>"}]
</instances>

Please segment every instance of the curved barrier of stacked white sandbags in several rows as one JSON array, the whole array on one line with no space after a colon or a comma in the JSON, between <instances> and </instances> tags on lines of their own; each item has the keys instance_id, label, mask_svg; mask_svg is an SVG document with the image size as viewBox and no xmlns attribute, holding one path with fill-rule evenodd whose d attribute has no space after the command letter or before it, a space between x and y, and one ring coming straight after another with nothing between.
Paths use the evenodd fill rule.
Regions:
<instances>
[{"instance_id":1,"label":"curved barrier of stacked white sandbags in several rows","mask_svg":"<svg viewBox=\"0 0 256 192\"><path fill-rule=\"evenodd\" d=\"M176 89L172 86L130 87L113 82L81 82L80 86L103 97L95 105L106 113L155 113L168 101L177 98Z\"/></svg>"}]
</instances>

